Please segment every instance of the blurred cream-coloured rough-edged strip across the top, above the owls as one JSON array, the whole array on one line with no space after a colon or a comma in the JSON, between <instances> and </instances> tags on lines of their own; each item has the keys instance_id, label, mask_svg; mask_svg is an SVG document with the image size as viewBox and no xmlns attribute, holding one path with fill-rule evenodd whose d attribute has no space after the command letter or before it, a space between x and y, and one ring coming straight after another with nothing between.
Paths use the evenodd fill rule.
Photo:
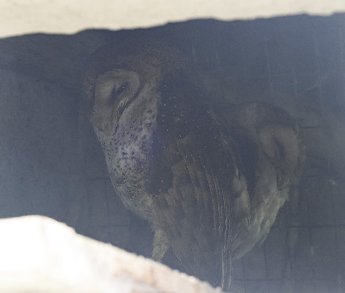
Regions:
<instances>
[{"instance_id":1,"label":"blurred cream-coloured rough-edged strip across the top, above the owls","mask_svg":"<svg viewBox=\"0 0 345 293\"><path fill-rule=\"evenodd\" d=\"M253 19L345 12L344 0L1 0L0 37L151 27L195 18Z\"/></svg>"}]
</instances>

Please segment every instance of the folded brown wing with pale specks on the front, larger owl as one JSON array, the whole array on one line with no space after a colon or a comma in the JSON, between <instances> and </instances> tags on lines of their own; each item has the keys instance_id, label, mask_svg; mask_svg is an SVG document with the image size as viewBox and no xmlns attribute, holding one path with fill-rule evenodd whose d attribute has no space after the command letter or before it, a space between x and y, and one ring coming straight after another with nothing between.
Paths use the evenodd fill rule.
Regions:
<instances>
[{"instance_id":1,"label":"folded brown wing with pale specks on the front, larger owl","mask_svg":"<svg viewBox=\"0 0 345 293\"><path fill-rule=\"evenodd\" d=\"M183 74L168 74L160 92L162 155L152 168L150 191L161 228L190 273L204 280L214 274L226 283L234 216L246 218L250 210L234 147L203 90Z\"/></svg>"}]
</instances>

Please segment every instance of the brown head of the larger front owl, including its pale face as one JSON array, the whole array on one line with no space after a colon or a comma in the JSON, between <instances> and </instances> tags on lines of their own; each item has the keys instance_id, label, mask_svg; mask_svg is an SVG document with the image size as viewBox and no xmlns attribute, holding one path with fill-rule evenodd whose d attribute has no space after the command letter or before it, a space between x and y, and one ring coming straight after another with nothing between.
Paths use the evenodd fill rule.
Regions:
<instances>
[{"instance_id":1,"label":"brown head of the larger front owl, including its pale face","mask_svg":"<svg viewBox=\"0 0 345 293\"><path fill-rule=\"evenodd\" d=\"M94 127L106 135L114 134L120 116L144 88L157 92L164 76L174 70L196 82L190 68L178 49L161 41L130 39L102 46L86 65L84 109Z\"/></svg>"}]
</instances>

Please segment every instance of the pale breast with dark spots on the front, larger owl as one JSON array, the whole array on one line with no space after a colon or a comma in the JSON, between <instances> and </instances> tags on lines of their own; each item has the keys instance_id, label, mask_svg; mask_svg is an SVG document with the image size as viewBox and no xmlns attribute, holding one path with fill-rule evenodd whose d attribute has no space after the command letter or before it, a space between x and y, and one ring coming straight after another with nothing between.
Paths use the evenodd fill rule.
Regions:
<instances>
[{"instance_id":1,"label":"pale breast with dark spots on the front, larger owl","mask_svg":"<svg viewBox=\"0 0 345 293\"><path fill-rule=\"evenodd\" d=\"M138 102L124 111L113 135L107 136L97 127L95 132L117 194L127 208L142 214L137 206L142 202L142 208L145 208L143 201L150 205L146 186L150 167L156 162L160 147L157 138L157 102L146 100L145 106Z\"/></svg>"}]
</instances>

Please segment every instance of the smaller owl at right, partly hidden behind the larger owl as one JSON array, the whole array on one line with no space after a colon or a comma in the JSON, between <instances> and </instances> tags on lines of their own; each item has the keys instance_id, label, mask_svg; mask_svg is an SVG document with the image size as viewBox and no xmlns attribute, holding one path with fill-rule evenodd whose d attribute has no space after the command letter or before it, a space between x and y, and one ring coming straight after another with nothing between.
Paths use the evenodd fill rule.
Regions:
<instances>
[{"instance_id":1,"label":"smaller owl at right, partly hidden behind the larger owl","mask_svg":"<svg viewBox=\"0 0 345 293\"><path fill-rule=\"evenodd\" d=\"M224 110L241 159L250 196L251 223L231 243L234 258L262 243L292 187L302 175L305 147L297 125L283 109L263 101Z\"/></svg>"}]
</instances>

